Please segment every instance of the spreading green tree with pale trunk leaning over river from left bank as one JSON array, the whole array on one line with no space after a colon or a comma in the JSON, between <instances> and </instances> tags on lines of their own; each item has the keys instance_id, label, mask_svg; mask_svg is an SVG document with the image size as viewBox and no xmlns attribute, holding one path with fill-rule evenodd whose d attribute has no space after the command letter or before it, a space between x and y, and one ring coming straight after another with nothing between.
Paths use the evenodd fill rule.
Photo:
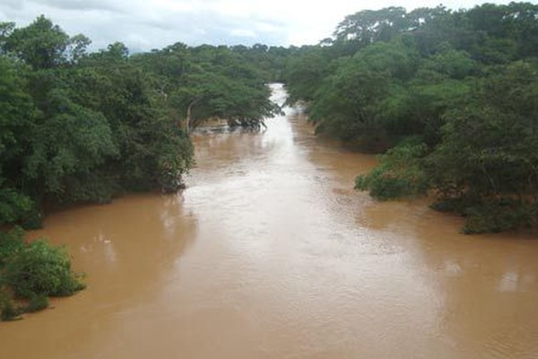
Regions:
<instances>
[{"instance_id":1,"label":"spreading green tree with pale trunk leaning over river from left bank","mask_svg":"<svg viewBox=\"0 0 538 359\"><path fill-rule=\"evenodd\" d=\"M162 102L178 114L187 132L207 118L230 124L259 127L278 108L269 101L265 79L255 58L268 60L267 48L228 48L204 45L187 48L175 44L134 57L156 76Z\"/></svg>"}]
</instances>

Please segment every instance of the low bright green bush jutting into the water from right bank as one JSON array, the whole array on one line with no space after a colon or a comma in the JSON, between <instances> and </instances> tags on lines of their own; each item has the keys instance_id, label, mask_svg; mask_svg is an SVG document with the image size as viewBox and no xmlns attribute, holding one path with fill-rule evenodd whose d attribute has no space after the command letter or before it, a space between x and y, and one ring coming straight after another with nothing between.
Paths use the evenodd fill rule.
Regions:
<instances>
[{"instance_id":1,"label":"low bright green bush jutting into the water from right bank","mask_svg":"<svg viewBox=\"0 0 538 359\"><path fill-rule=\"evenodd\" d=\"M426 194L428 179L422 170L424 144L401 144L379 156L377 167L355 180L355 189L369 190L379 200Z\"/></svg>"}]
</instances>

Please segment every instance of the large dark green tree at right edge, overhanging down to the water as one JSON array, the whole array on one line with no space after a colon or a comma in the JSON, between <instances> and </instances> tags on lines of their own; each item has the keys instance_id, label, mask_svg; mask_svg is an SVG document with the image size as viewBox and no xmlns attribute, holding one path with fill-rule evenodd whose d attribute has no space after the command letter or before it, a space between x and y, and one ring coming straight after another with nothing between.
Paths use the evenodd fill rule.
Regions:
<instances>
[{"instance_id":1,"label":"large dark green tree at right edge, overhanging down to the water","mask_svg":"<svg viewBox=\"0 0 538 359\"><path fill-rule=\"evenodd\" d=\"M467 216L464 232L538 223L537 81L535 61L498 67L447 111L427 171L440 200Z\"/></svg>"}]
</instances>

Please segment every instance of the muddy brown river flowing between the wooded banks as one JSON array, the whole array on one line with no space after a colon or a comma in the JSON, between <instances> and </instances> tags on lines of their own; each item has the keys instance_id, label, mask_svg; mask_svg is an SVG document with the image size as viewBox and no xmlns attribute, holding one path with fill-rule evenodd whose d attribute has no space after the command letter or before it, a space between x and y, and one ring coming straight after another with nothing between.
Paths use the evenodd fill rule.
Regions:
<instances>
[{"instance_id":1,"label":"muddy brown river flowing between the wooded banks","mask_svg":"<svg viewBox=\"0 0 538 359\"><path fill-rule=\"evenodd\" d=\"M273 85L274 99L285 93ZM294 109L194 134L178 195L48 216L88 288L0 323L1 358L538 358L538 241L464 236Z\"/></svg>"}]
</instances>

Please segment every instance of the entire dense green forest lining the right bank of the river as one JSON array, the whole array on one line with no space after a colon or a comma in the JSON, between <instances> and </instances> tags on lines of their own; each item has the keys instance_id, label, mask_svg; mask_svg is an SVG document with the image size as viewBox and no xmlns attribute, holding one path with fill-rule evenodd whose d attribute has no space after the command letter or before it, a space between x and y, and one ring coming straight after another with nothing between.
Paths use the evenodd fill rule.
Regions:
<instances>
[{"instance_id":1,"label":"entire dense green forest lining the right bank of the river","mask_svg":"<svg viewBox=\"0 0 538 359\"><path fill-rule=\"evenodd\" d=\"M538 5L351 14L285 80L318 133L384 153L356 188L428 193L466 233L538 223Z\"/></svg>"}]
</instances>

